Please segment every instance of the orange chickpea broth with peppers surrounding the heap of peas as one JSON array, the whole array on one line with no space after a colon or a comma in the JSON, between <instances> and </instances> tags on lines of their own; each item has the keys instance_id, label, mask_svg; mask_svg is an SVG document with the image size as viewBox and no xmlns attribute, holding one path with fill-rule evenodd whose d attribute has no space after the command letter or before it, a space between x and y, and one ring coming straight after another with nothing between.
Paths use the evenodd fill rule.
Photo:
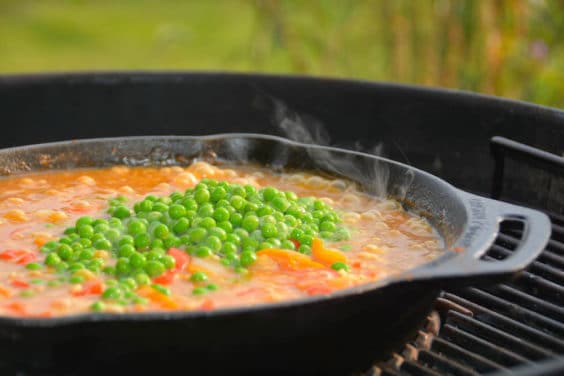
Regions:
<instances>
[{"instance_id":1,"label":"orange chickpea broth with peppers surrounding the heap of peas","mask_svg":"<svg viewBox=\"0 0 564 376\"><path fill-rule=\"evenodd\" d=\"M90 312L107 287L109 276L83 270L79 272L83 281L73 284L68 282L68 275L52 267L28 270L25 264L43 263L45 254L40 247L63 236L65 228L73 226L79 217L108 218L111 198L125 196L131 207L148 194L183 192L203 178L257 188L273 186L300 197L318 197L340 214L352 237L317 242L312 255L259 250L248 273L222 265L215 255L187 255L186 265L169 273L169 280L163 282L170 295L150 286L137 287L136 293L146 298L146 303L110 300L103 311L209 310L330 294L406 271L442 252L440 237L425 219L405 211L396 201L368 196L345 180L205 162L188 167L117 166L34 173L0 180L0 315L51 317ZM95 257L115 263L110 251L98 250ZM350 265L349 272L330 267L333 261L341 260ZM191 281L197 271L207 274L205 283ZM209 283L217 290L193 294L195 288Z\"/></svg>"}]
</instances>

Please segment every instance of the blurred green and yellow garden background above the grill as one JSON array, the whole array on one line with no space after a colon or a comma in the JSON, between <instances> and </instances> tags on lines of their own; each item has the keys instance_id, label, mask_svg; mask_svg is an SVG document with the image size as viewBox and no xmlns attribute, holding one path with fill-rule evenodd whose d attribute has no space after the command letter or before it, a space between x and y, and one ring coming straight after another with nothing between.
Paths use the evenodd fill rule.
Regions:
<instances>
[{"instance_id":1,"label":"blurred green and yellow garden background above the grill","mask_svg":"<svg viewBox=\"0 0 564 376\"><path fill-rule=\"evenodd\" d=\"M194 69L564 107L563 0L0 0L0 73Z\"/></svg>"}]
</instances>

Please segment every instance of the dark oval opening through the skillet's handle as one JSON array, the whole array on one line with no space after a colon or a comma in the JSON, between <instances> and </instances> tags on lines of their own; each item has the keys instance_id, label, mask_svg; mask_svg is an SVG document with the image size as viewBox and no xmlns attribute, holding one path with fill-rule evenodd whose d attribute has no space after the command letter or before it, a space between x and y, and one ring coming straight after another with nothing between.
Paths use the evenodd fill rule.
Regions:
<instances>
[{"instance_id":1,"label":"dark oval opening through the skillet's handle","mask_svg":"<svg viewBox=\"0 0 564 376\"><path fill-rule=\"evenodd\" d=\"M494 244L482 255L484 261L505 260L513 254L523 238L525 222L521 219L504 219L499 223L499 232Z\"/></svg>"}]
</instances>

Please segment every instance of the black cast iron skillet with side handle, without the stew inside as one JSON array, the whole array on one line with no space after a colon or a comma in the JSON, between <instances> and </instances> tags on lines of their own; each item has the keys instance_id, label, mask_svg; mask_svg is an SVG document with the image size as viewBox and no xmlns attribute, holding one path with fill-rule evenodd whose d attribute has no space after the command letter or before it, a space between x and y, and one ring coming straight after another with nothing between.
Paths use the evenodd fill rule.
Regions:
<instances>
[{"instance_id":1,"label":"black cast iron skillet with side handle, without the stew inside","mask_svg":"<svg viewBox=\"0 0 564 376\"><path fill-rule=\"evenodd\" d=\"M6 366L57 374L162 367L194 374L359 371L413 334L439 289L509 277L535 259L550 235L550 222L538 211L471 195L384 158L274 136L111 138L0 150L4 174L195 159L318 170L355 180L367 192L396 197L429 218L447 251L394 278L331 296L215 311L3 317L0 357ZM480 260L502 220L524 223L521 243L505 260Z\"/></svg>"}]
</instances>

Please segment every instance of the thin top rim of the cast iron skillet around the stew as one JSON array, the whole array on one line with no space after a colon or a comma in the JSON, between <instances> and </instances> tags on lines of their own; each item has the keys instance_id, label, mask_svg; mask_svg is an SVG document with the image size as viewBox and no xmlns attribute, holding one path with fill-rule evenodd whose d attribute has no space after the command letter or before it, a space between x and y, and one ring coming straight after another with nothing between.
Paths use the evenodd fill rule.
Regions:
<instances>
[{"instance_id":1,"label":"thin top rim of the cast iron skillet around the stew","mask_svg":"<svg viewBox=\"0 0 564 376\"><path fill-rule=\"evenodd\" d=\"M372 160L383 161L385 163L390 163L396 165L401 168L406 168L408 170L412 170L415 173L423 174L427 178L434 180L436 183L441 184L444 186L445 190L451 190L454 195L460 200L463 201L460 197L461 193L465 193L450 183L444 181L443 179L430 174L426 171L420 170L416 167L412 167L406 165L401 162L397 162L385 157L380 157L364 152L359 151L352 151L348 149L333 147L333 146L324 146L324 145L317 145L317 144L307 144L302 143L294 140L290 140L284 137L275 136L275 135L267 135L267 134L259 134L259 133L217 133L217 134L209 134L209 135L159 135L159 136L125 136L125 137L101 137L101 138L85 138L85 139L74 139L74 140L66 140L66 141L55 141L55 142L47 142L47 143L40 143L40 144L31 144L31 145L22 145L22 146L15 146L10 148L0 149L0 156L3 154L10 154L10 153L18 153L18 152L26 152L30 149L41 149L45 147L57 147L57 146L65 146L65 145L73 145L73 147L77 147L80 144L89 144L89 143L99 143L99 142L122 142L128 140L144 140L144 139L152 139L152 140L219 140L219 139L226 139L226 138L250 138L250 139L259 139L259 140L270 140L276 141L280 144L292 145L301 148L308 148L308 149L316 149L316 150L325 150L325 151L333 151L338 153L345 153L349 155L356 155L363 158L368 158ZM5 175L9 176L9 175ZM465 224L465 226L468 223ZM463 233L463 232L462 232ZM460 239L460 236L456 239ZM455 240L455 242L456 242ZM339 300L353 295L359 295L364 293L374 292L378 289L383 287L388 287L393 284L401 284L401 283L422 283L421 280L411 280L411 275L414 271L422 271L422 270L433 270L436 268L440 268L441 264L445 263L447 260L452 259L456 256L463 256L466 252L471 252L469 249L465 249L463 252L457 253L451 249L445 249L444 254L426 262L422 265L419 265L415 268L411 268L406 270L402 273L399 273L394 276L390 276L387 278L383 278L377 281L364 283L362 285L349 287L342 290L337 290L332 292L331 294L327 295L315 295L310 297L298 298L298 299L291 299L285 300L280 302L274 303L260 303L253 306L235 306L235 307L227 307L227 308L218 308L210 311L205 310L195 310L195 311L151 311L151 312L125 312L125 313L76 313L64 316L55 316L55 317L48 317L48 318L38 318L38 317L18 317L18 316L0 316L0 323L7 323L11 324L14 327L37 327L37 328L55 328L59 326L67 326L67 325L76 325L80 323L88 323L88 322L122 322L122 321L170 321L170 320L185 320L185 319L192 319L192 318L207 318L207 317L220 317L224 315L237 315L237 314L252 314L258 311L268 311L268 310L281 310L285 308L292 308L295 306L305 306L308 304L317 304L322 303L327 300ZM465 277L472 277L472 274L467 274ZM430 278L426 278L426 281L433 280L433 276L431 275ZM439 279L437 277L437 279Z\"/></svg>"}]
</instances>

